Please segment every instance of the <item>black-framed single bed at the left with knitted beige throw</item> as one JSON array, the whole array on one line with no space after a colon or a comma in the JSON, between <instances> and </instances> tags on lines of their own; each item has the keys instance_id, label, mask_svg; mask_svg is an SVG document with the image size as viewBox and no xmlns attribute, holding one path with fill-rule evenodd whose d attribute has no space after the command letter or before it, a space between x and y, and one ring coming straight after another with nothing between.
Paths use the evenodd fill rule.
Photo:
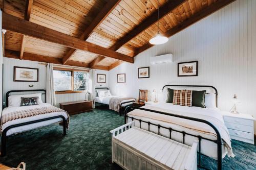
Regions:
<instances>
[{"instance_id":1,"label":"black-framed single bed at the left with knitted beige throw","mask_svg":"<svg viewBox=\"0 0 256 170\"><path fill-rule=\"evenodd\" d=\"M33 92L42 93L33 93ZM23 93L11 95L13 93ZM24 94L30 93L30 94ZM32 94L31 94L32 93ZM6 93L6 107L1 115L1 156L6 155L6 138L10 135L26 132L51 124L59 123L63 127L63 135L69 124L69 115L66 111L56 108L41 101L41 95L45 95L46 90L11 90ZM38 96L37 105L19 106L20 98L23 96Z\"/></svg>"}]
</instances>

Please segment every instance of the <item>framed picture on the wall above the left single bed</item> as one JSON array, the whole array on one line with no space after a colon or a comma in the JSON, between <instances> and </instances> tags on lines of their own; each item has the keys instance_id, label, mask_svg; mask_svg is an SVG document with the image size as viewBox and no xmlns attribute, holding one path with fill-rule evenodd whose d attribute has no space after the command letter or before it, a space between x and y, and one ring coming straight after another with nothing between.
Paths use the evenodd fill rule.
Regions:
<instances>
[{"instance_id":1,"label":"framed picture on the wall above the left single bed","mask_svg":"<svg viewBox=\"0 0 256 170\"><path fill-rule=\"evenodd\" d=\"M14 82L38 82L38 68L13 67Z\"/></svg>"}]
</instances>

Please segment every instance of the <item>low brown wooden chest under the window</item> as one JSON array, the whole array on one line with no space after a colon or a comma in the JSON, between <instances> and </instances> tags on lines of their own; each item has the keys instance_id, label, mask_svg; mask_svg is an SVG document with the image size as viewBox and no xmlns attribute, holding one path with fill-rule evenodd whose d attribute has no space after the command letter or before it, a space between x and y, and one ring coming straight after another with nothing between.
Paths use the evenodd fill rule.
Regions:
<instances>
[{"instance_id":1,"label":"low brown wooden chest under the window","mask_svg":"<svg viewBox=\"0 0 256 170\"><path fill-rule=\"evenodd\" d=\"M89 112L93 110L92 101L76 101L59 104L60 109L67 111L70 115Z\"/></svg>"}]
</instances>

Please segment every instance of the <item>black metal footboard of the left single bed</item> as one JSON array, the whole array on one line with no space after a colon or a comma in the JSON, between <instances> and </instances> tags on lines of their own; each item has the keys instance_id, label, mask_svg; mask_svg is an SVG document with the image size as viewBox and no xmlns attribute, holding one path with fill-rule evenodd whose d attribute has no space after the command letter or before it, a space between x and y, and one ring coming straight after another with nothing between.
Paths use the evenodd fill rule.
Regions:
<instances>
[{"instance_id":1,"label":"black metal footboard of the left single bed","mask_svg":"<svg viewBox=\"0 0 256 170\"><path fill-rule=\"evenodd\" d=\"M66 135L66 122L67 122L67 120L62 115L43 118L43 119L39 119L39 120L33 120L31 122L25 122L25 123L16 124L16 125L11 125L11 126L8 126L7 128L5 128L2 132L2 134L1 134L1 157L4 157L6 155L6 139L7 139L7 131L8 130L10 130L12 128L20 127L20 126L25 126L25 125L35 124L35 123L39 123L39 122L44 122L46 120L51 120L51 119L55 119L55 118L62 118L63 135Z\"/></svg>"}]
</instances>

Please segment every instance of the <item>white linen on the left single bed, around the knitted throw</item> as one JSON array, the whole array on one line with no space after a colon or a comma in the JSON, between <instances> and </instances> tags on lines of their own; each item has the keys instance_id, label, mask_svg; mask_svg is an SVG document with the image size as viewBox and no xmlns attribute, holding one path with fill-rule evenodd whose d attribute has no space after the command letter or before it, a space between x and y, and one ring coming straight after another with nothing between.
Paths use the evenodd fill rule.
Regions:
<instances>
[{"instance_id":1,"label":"white linen on the left single bed, around the knitted throw","mask_svg":"<svg viewBox=\"0 0 256 170\"><path fill-rule=\"evenodd\" d=\"M51 107L51 106L52 105L50 105L48 103L42 103L42 104L33 105L33 106L9 106L9 107L4 108L2 115L8 114L8 113L11 113L14 111L19 111L19 110L28 110L28 109L35 109L35 108ZM66 112L57 112L54 114L53 113L40 114L40 115L36 115L36 116L32 116L32 117L26 117L26 118L9 121L3 125L2 130L4 130L6 127L8 127L10 125L20 124L20 123L24 123L24 122L30 122L33 120L38 120L38 119L48 118L48 117L58 116L58 115L63 115L66 119L68 118ZM51 125L51 124L54 124L57 122L62 122L62 118L56 118L56 119L46 120L44 122L39 122L39 123L35 123L35 124L12 128L7 131L7 136L10 136L10 135L13 135L16 133L20 133L20 132L29 131L29 130L40 128L40 127L44 127L44 126L48 126L48 125Z\"/></svg>"}]
</instances>

